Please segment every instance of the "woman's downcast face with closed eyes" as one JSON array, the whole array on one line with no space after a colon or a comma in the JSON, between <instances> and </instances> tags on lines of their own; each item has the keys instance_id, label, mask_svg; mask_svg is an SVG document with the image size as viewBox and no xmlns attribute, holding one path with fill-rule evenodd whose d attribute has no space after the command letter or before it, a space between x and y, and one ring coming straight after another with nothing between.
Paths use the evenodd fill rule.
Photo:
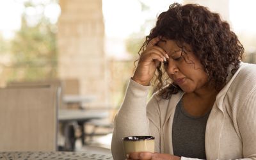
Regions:
<instances>
[{"instance_id":1,"label":"woman's downcast face with closed eyes","mask_svg":"<svg viewBox=\"0 0 256 160\"><path fill-rule=\"evenodd\" d=\"M174 40L164 38L157 45L169 56L164 63L168 76L184 92L196 92L207 84L207 73L195 54L191 52L189 45L184 44L182 49Z\"/></svg>"}]
</instances>

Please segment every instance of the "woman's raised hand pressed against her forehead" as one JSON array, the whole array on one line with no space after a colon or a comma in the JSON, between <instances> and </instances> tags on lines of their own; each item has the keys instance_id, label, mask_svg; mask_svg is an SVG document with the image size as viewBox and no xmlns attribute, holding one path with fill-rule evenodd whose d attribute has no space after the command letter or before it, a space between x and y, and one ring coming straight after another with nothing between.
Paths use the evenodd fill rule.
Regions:
<instances>
[{"instance_id":1,"label":"woman's raised hand pressed against her forehead","mask_svg":"<svg viewBox=\"0 0 256 160\"><path fill-rule=\"evenodd\" d=\"M145 51L140 54L140 59L132 80L143 86L148 86L150 84L159 63L166 60L166 58L169 58L166 52L156 45L159 40L160 38L158 36L150 40Z\"/></svg>"}]
</instances>

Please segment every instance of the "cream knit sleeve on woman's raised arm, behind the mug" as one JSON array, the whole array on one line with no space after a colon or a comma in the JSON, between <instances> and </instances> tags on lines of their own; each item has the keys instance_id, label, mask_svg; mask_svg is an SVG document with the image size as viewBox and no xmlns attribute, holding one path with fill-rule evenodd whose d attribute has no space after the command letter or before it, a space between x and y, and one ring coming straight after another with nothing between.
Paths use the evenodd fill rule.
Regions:
<instances>
[{"instance_id":1,"label":"cream knit sleeve on woman's raised arm, behind the mug","mask_svg":"<svg viewBox=\"0 0 256 160\"><path fill-rule=\"evenodd\" d=\"M125 136L155 136L156 147L159 146L157 145L157 141L159 141L157 121L152 120L152 118L156 118L156 115L152 115L152 113L157 114L157 112L147 111L147 109L154 109L152 106L157 103L156 99L151 99L147 105L149 88L150 86L142 86L132 79L129 82L124 102L113 122L114 129L111 141L113 159L125 159L122 143L122 138Z\"/></svg>"}]
</instances>

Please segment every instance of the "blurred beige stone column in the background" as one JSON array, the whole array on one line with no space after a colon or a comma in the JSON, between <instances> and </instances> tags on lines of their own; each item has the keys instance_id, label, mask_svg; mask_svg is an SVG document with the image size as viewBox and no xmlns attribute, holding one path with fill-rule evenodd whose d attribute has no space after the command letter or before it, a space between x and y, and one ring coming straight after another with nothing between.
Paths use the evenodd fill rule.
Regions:
<instances>
[{"instance_id":1,"label":"blurred beige stone column in the background","mask_svg":"<svg viewBox=\"0 0 256 160\"><path fill-rule=\"evenodd\" d=\"M79 80L81 95L106 104L108 84L101 0L60 0L58 77Z\"/></svg>"}]
</instances>

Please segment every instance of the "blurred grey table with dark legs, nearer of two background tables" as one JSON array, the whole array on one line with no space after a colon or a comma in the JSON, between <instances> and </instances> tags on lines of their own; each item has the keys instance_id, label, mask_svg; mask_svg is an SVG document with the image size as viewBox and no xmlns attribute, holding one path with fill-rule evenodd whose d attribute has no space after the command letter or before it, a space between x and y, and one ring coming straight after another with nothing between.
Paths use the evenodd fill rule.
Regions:
<instances>
[{"instance_id":1,"label":"blurred grey table with dark legs, nearer of two background tables","mask_svg":"<svg viewBox=\"0 0 256 160\"><path fill-rule=\"evenodd\" d=\"M81 141L84 145L84 123L92 119L107 118L108 111L93 109L60 109L58 111L58 121L63 125L65 136L64 150L74 151L76 136L75 125L81 128Z\"/></svg>"}]
</instances>

